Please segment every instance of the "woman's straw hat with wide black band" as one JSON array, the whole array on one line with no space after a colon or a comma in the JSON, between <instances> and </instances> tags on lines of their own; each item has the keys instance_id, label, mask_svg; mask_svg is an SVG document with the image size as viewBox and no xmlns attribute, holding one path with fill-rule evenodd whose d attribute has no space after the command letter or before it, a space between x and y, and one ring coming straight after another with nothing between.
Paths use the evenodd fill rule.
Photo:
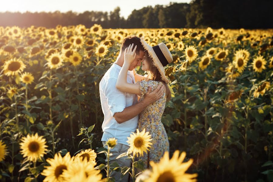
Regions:
<instances>
[{"instance_id":1,"label":"woman's straw hat with wide black band","mask_svg":"<svg viewBox=\"0 0 273 182\"><path fill-rule=\"evenodd\" d=\"M161 79L164 82L169 83L170 80L167 78L167 76L165 76L164 66L173 62L173 56L167 46L161 42L160 44L152 47L145 42L144 37L140 37L140 42L144 49L148 51L149 56L153 59L153 65L156 66L160 72Z\"/></svg>"}]
</instances>

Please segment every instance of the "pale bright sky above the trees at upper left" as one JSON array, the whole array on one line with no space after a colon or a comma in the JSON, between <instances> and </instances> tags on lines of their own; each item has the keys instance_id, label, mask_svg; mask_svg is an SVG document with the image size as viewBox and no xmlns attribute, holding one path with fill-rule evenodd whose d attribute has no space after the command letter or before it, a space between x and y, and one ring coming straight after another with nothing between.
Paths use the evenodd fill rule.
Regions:
<instances>
[{"instance_id":1,"label":"pale bright sky above the trees at upper left","mask_svg":"<svg viewBox=\"0 0 273 182\"><path fill-rule=\"evenodd\" d=\"M134 9L141 9L151 5L168 5L170 2L187 2L191 0L0 0L0 12L73 12L84 11L113 11L120 7L120 16L125 19Z\"/></svg>"}]
</instances>

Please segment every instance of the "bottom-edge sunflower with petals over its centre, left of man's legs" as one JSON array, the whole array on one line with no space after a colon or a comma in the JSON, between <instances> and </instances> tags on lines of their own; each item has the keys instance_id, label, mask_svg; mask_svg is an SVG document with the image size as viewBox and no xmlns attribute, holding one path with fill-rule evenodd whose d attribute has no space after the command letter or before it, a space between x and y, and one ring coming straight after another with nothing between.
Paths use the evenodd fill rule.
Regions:
<instances>
[{"instance_id":1,"label":"bottom-edge sunflower with petals over its centre, left of man's legs","mask_svg":"<svg viewBox=\"0 0 273 182\"><path fill-rule=\"evenodd\" d=\"M76 160L76 161L75 161ZM103 182L102 174L100 170L94 169L94 166L87 163L85 160L77 160L75 158L72 165L69 165L67 169L63 170L62 177L64 181L86 181L86 182Z\"/></svg>"}]
</instances>

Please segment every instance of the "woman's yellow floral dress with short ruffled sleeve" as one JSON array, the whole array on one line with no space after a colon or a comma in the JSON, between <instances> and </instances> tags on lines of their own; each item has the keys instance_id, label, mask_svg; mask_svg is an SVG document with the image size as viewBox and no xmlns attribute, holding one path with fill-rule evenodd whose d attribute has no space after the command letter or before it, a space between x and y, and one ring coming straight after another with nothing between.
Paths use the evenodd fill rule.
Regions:
<instances>
[{"instance_id":1,"label":"woman's yellow floral dress with short ruffled sleeve","mask_svg":"<svg viewBox=\"0 0 273 182\"><path fill-rule=\"evenodd\" d=\"M139 101L144 99L145 94L147 93L147 89L150 86L152 91L157 88L159 84L162 84L158 81L145 81L142 80L140 83L140 99ZM166 104L166 93L158 99L156 102L150 104L139 114L139 120L137 124L138 130L141 132L145 129L145 132L149 132L149 135L152 135L153 139L150 141L153 143L150 147L150 151L148 153L143 153L143 157L137 157L136 160L142 159L144 161L144 169L150 168L149 161L159 162L160 158L163 157L164 152L169 152L169 140L166 133L166 130L161 123L161 117L163 115Z\"/></svg>"}]
</instances>

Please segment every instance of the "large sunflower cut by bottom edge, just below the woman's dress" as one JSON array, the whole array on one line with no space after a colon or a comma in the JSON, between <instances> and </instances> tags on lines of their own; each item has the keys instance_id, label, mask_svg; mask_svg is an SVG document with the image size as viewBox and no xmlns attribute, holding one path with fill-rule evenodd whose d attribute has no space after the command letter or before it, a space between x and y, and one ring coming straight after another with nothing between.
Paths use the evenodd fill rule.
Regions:
<instances>
[{"instance_id":1,"label":"large sunflower cut by bottom edge, just below the woman's dress","mask_svg":"<svg viewBox=\"0 0 273 182\"><path fill-rule=\"evenodd\" d=\"M185 173L190 165L193 163L193 159L183 163L186 157L186 152L182 152L179 155L179 150L174 152L174 155L169 159L169 152L165 152L164 156L160 159L159 163L150 162L152 171L150 177L145 179L145 182L195 182L197 181L197 174Z\"/></svg>"}]
</instances>

